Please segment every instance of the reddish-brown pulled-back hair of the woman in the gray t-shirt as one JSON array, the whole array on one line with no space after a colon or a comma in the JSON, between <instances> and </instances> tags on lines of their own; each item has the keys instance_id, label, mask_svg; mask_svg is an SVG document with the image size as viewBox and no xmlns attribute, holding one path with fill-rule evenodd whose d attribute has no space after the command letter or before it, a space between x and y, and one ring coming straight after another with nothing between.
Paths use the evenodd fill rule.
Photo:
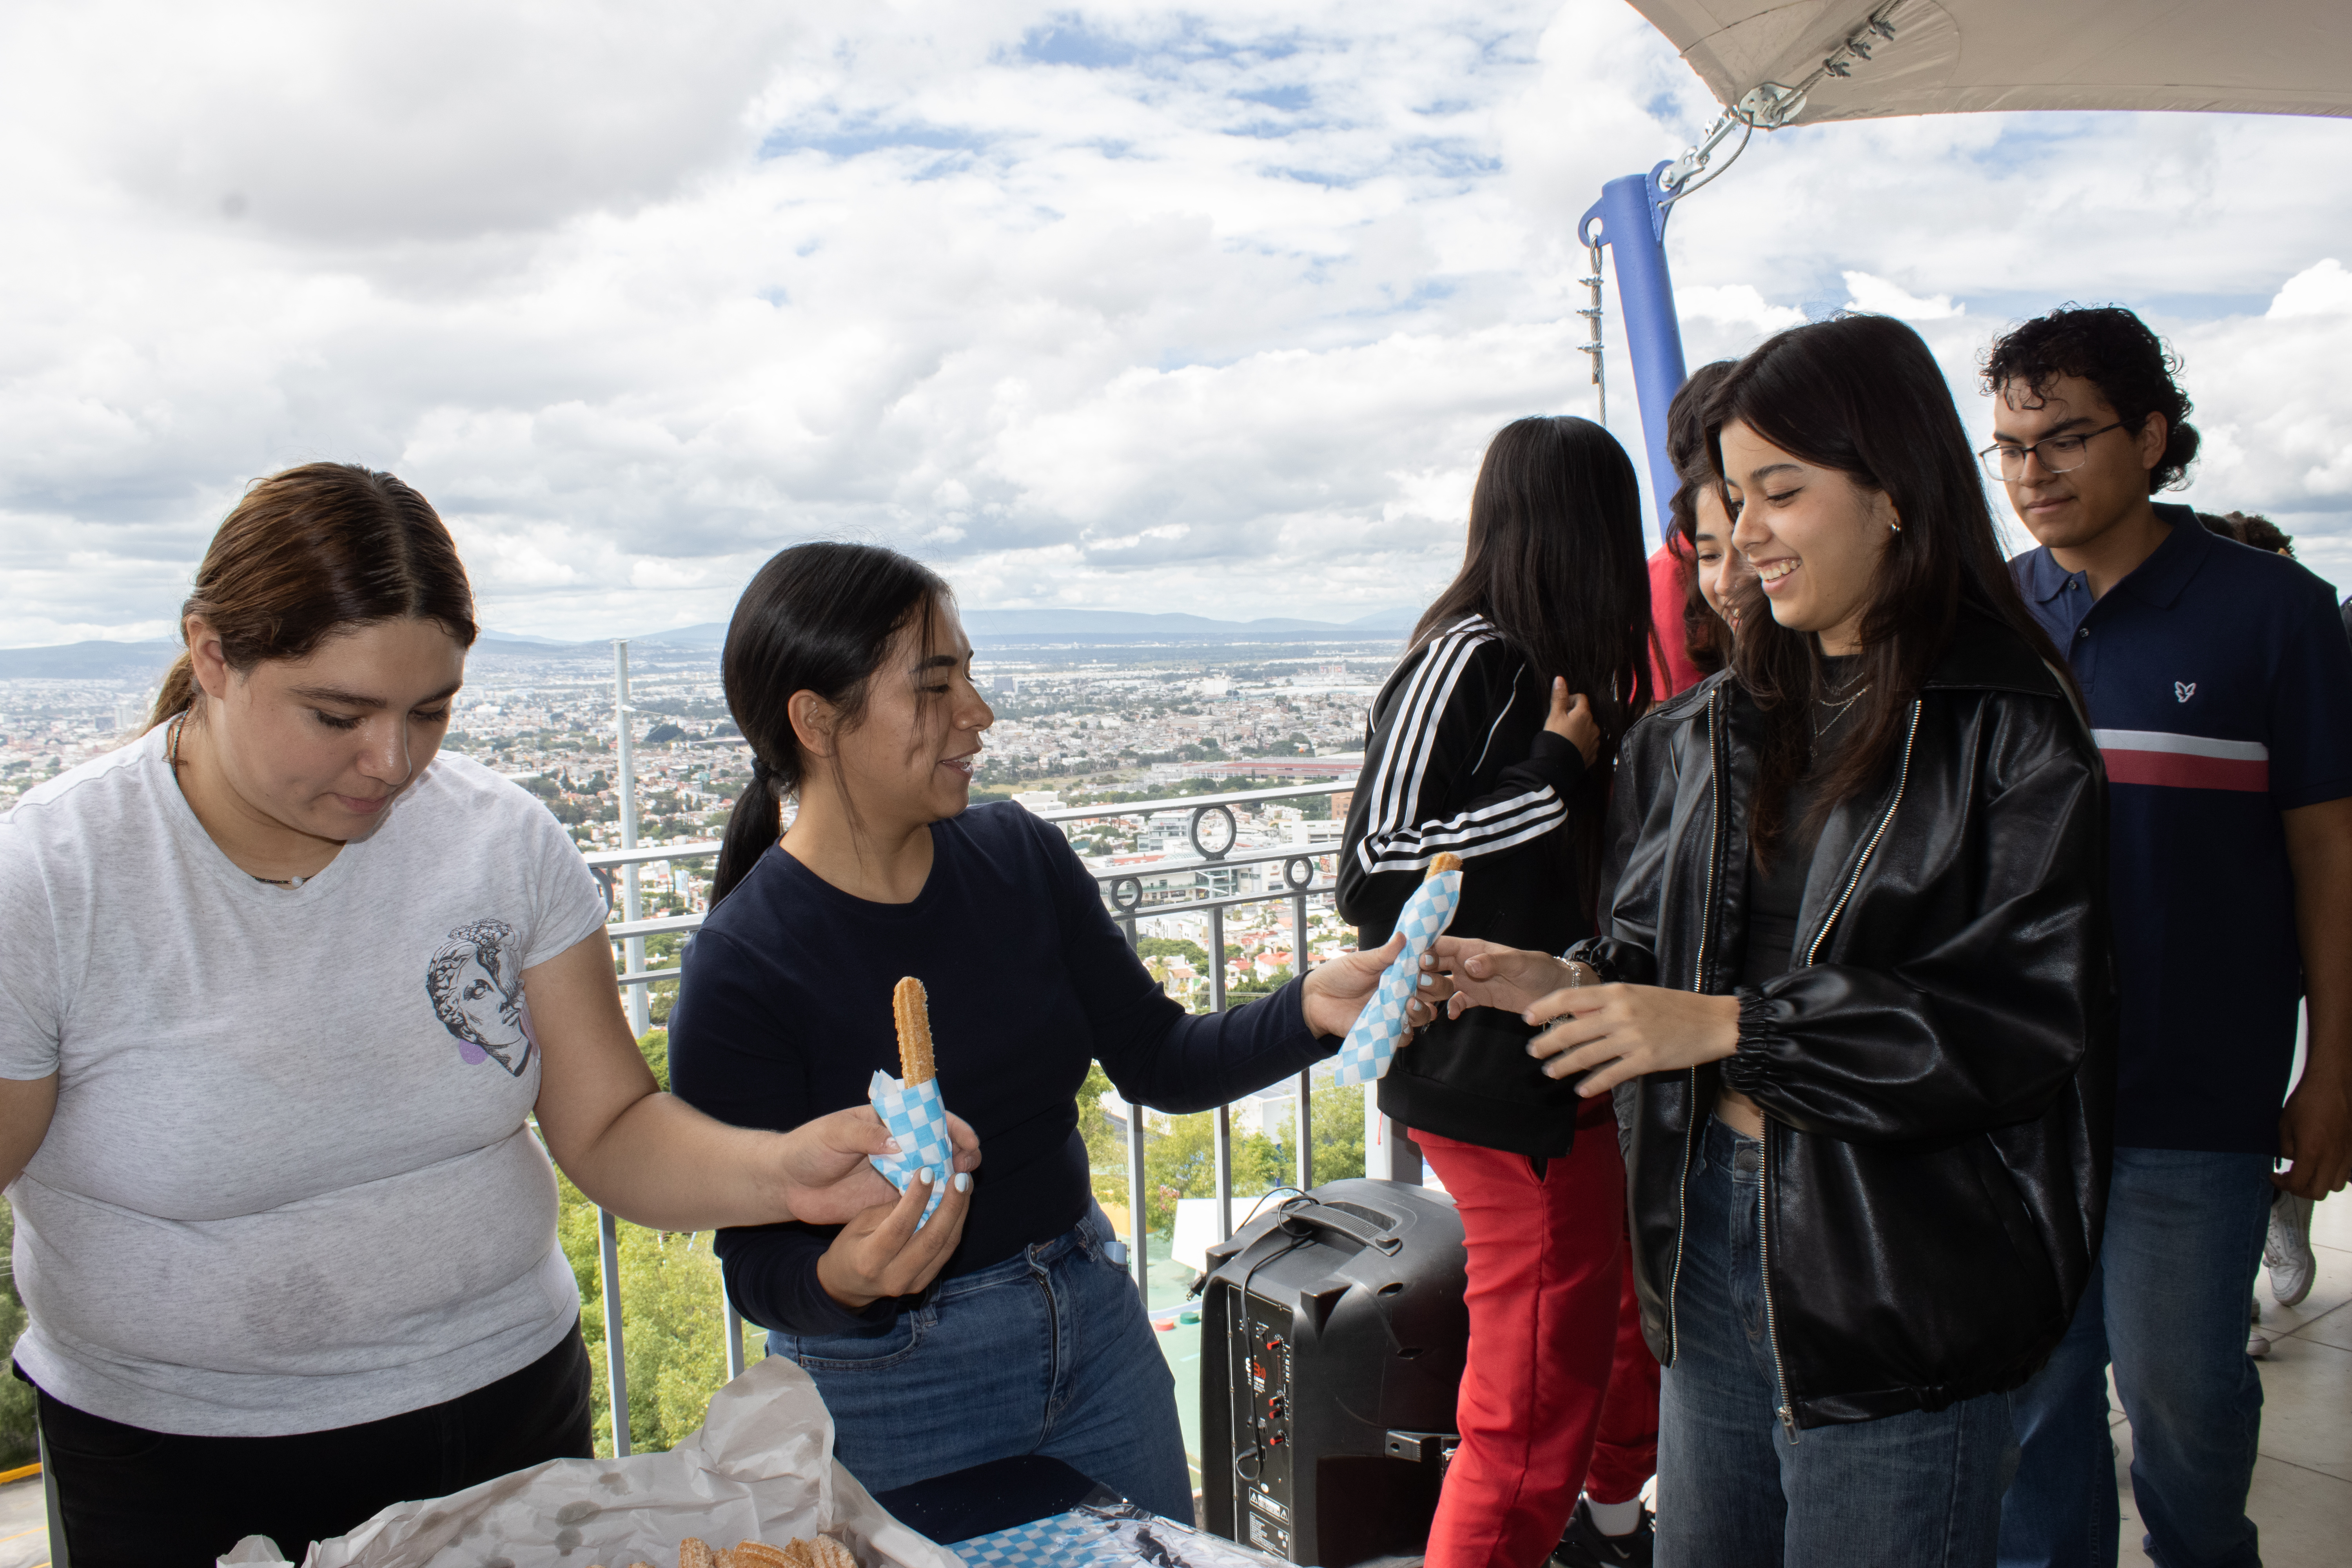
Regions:
<instances>
[{"instance_id":1,"label":"reddish-brown pulled-back hair of the woman in the gray t-shirt","mask_svg":"<svg viewBox=\"0 0 2352 1568\"><path fill-rule=\"evenodd\" d=\"M179 607L202 616L238 675L268 658L306 658L327 637L421 616L475 639L473 585L433 503L388 473L303 463L254 480L221 520ZM181 654L162 677L148 729L193 710L205 691Z\"/></svg>"}]
</instances>

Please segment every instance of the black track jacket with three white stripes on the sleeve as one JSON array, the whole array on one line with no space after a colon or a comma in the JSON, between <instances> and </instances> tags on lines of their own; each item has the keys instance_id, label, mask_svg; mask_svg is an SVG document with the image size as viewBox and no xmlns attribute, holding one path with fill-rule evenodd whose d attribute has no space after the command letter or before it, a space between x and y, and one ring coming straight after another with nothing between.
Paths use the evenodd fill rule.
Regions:
<instances>
[{"instance_id":1,"label":"black track jacket with three white stripes on the sleeve","mask_svg":"<svg viewBox=\"0 0 2352 1568\"><path fill-rule=\"evenodd\" d=\"M1479 616L1397 665L1371 708L1364 773L1348 806L1338 910L1378 947L1430 858L1463 858L1451 936L1566 952L1592 933L1581 914L1569 799L1576 745L1543 729L1550 677ZM1409 1128L1515 1154L1566 1154L1588 1107L1543 1077L1517 1016L1472 1009L1439 1018L1397 1053L1381 1110ZM1606 1100L1602 1100L1606 1105Z\"/></svg>"}]
</instances>

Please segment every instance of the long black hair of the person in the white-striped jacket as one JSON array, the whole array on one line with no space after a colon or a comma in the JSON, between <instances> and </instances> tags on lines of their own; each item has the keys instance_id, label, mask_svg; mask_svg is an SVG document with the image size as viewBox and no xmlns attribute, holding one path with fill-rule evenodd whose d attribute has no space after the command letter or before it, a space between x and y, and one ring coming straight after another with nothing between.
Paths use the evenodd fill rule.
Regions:
<instances>
[{"instance_id":1,"label":"long black hair of the person in the white-striped jacket","mask_svg":"<svg viewBox=\"0 0 2352 1568\"><path fill-rule=\"evenodd\" d=\"M1545 701L1555 675L1592 698L1602 748L1569 811L1595 846L1618 738L1651 696L1642 487L1613 435L1573 416L1517 418L1496 433L1470 491L1463 569L1421 611L1406 658L1465 616L1503 635L1543 679Z\"/></svg>"}]
</instances>

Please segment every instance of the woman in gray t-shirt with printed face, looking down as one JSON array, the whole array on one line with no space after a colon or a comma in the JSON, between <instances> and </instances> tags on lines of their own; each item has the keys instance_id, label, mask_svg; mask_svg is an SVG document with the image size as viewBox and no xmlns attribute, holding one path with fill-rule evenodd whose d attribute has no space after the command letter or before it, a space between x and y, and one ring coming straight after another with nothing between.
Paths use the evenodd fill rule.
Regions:
<instances>
[{"instance_id":1,"label":"woman in gray t-shirt with printed face, looking down","mask_svg":"<svg viewBox=\"0 0 2352 1568\"><path fill-rule=\"evenodd\" d=\"M0 818L16 1375L78 1568L301 1556L588 1455L550 1152L661 1229L866 1213L868 1267L929 1281L969 1178L915 1229L870 1110L781 1135L659 1093L579 851L435 757L475 623L423 496L259 482L183 628L155 726Z\"/></svg>"}]
</instances>

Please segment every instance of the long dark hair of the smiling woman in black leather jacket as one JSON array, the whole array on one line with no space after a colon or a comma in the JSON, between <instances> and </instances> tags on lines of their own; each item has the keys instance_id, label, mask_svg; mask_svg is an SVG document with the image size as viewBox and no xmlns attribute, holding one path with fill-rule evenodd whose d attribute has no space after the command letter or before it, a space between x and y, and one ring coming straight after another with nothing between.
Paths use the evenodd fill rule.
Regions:
<instances>
[{"instance_id":1,"label":"long dark hair of the smiling woman in black leather jacket","mask_svg":"<svg viewBox=\"0 0 2352 1568\"><path fill-rule=\"evenodd\" d=\"M1830 757L1816 820L1884 776L1907 708L1952 644L1962 614L1999 621L2065 668L2009 576L1952 388L1917 331L1886 315L1790 327L1740 360L1708 400L1717 473L1731 421L1884 494L1903 524L1870 581L1860 625L1867 691ZM1740 618L1731 668L1764 710L1750 837L1766 858L1780 837L1788 790L1811 762L1818 661L1811 632L1792 632L1764 611Z\"/></svg>"}]
</instances>

